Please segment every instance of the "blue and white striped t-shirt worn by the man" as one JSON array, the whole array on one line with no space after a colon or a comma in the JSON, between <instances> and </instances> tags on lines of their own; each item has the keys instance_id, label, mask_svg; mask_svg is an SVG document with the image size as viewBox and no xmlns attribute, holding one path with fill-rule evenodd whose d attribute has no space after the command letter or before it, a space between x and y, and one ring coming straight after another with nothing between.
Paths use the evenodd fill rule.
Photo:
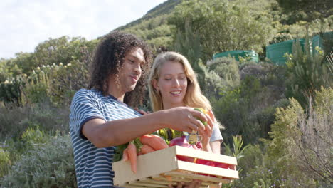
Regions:
<instances>
[{"instance_id":1,"label":"blue and white striped t-shirt worn by the man","mask_svg":"<svg viewBox=\"0 0 333 188\"><path fill-rule=\"evenodd\" d=\"M113 187L115 147L95 147L82 133L85 122L95 118L112 121L138 116L137 111L112 95L102 95L99 90L81 89L75 93L70 105L70 137L78 187Z\"/></svg>"}]
</instances>

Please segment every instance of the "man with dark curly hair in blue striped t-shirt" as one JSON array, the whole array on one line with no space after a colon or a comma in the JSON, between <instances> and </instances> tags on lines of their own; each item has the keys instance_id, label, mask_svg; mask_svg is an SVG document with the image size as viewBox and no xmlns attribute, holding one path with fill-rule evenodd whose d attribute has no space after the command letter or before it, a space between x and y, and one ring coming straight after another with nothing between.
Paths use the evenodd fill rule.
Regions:
<instances>
[{"instance_id":1,"label":"man with dark curly hair in blue striped t-shirt","mask_svg":"<svg viewBox=\"0 0 333 188\"><path fill-rule=\"evenodd\" d=\"M70 105L78 187L113 187L112 160L117 145L164 127L186 132L211 131L194 117L212 125L210 118L193 108L172 108L147 115L131 108L142 103L151 61L147 45L131 34L109 33L97 46L89 87L78 90ZM195 182L191 187L199 184Z\"/></svg>"}]
</instances>

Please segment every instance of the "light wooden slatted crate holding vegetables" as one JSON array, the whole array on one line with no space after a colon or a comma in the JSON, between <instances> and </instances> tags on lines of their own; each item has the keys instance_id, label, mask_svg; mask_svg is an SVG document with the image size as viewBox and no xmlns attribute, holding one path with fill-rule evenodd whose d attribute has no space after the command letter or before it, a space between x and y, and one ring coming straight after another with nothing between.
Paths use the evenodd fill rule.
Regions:
<instances>
[{"instance_id":1,"label":"light wooden slatted crate holding vegetables","mask_svg":"<svg viewBox=\"0 0 333 188\"><path fill-rule=\"evenodd\" d=\"M230 169L211 167L204 164L177 160L176 155L195 157L229 164ZM178 182L202 180L201 187L216 187L220 183L229 183L238 179L235 157L218 155L191 148L173 146L137 157L137 173L134 174L129 161L113 163L114 184L119 187L168 187ZM209 174L210 176L201 175Z\"/></svg>"}]
</instances>

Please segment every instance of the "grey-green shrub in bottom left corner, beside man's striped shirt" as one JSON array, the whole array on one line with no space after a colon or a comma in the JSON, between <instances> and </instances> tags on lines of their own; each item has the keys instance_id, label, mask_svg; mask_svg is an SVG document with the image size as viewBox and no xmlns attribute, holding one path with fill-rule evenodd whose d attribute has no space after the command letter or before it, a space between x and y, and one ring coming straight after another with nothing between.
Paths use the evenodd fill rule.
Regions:
<instances>
[{"instance_id":1,"label":"grey-green shrub in bottom left corner, beside man's striped shirt","mask_svg":"<svg viewBox=\"0 0 333 188\"><path fill-rule=\"evenodd\" d=\"M11 166L1 187L77 187L69 135L35 145Z\"/></svg>"}]
</instances>

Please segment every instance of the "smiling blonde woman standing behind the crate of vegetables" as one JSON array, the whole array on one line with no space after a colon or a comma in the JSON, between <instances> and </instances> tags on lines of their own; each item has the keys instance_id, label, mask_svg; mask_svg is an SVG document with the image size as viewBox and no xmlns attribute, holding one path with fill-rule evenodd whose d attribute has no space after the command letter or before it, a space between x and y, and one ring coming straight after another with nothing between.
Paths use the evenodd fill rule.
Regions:
<instances>
[{"instance_id":1,"label":"smiling blonde woman standing behind the crate of vegetables","mask_svg":"<svg viewBox=\"0 0 333 188\"><path fill-rule=\"evenodd\" d=\"M211 104L201 93L196 73L183 55L169 51L155 58L149 74L149 97L154 112L180 106L207 110L214 123L211 135L203 135L203 149L221 153L221 125L215 120Z\"/></svg>"}]
</instances>

